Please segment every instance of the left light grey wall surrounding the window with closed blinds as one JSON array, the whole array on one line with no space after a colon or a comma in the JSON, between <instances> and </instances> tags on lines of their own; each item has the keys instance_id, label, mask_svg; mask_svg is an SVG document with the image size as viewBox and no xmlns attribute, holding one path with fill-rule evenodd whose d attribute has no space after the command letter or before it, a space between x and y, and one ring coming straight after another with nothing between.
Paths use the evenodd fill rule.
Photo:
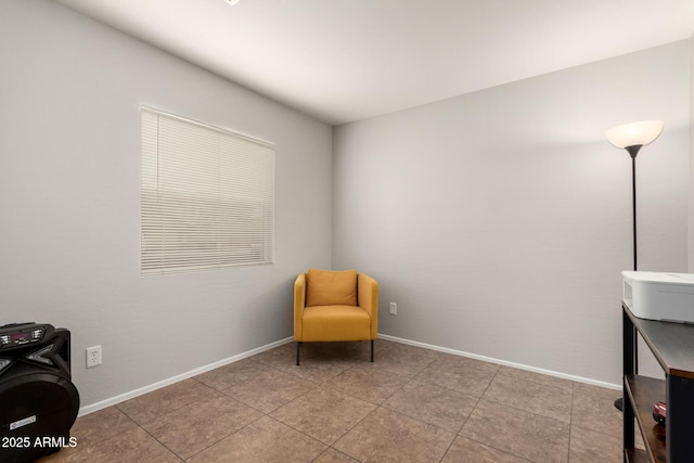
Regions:
<instances>
[{"instance_id":1,"label":"left light grey wall surrounding the window with closed blinds","mask_svg":"<svg viewBox=\"0 0 694 463\"><path fill-rule=\"evenodd\" d=\"M0 3L0 324L68 327L82 406L293 334L296 273L331 266L329 126L52 1ZM277 144L275 265L140 276L142 104Z\"/></svg>"}]
</instances>

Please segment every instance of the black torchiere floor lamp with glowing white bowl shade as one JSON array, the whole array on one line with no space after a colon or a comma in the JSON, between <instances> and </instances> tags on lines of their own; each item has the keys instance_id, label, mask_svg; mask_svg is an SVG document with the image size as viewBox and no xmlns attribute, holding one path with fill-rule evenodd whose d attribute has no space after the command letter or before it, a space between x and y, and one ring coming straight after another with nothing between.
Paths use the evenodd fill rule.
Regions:
<instances>
[{"instance_id":1,"label":"black torchiere floor lamp with glowing white bowl shade","mask_svg":"<svg viewBox=\"0 0 694 463\"><path fill-rule=\"evenodd\" d=\"M633 270L638 270L637 259L637 154L642 146L653 142L663 131L660 120L642 120L613 127L605 132L607 140L616 147L625 149L631 156L631 209L633 231ZM634 339L635 343L635 339ZM635 352L634 346L634 352ZM624 411L624 398L615 400L615 407Z\"/></svg>"}]
</instances>

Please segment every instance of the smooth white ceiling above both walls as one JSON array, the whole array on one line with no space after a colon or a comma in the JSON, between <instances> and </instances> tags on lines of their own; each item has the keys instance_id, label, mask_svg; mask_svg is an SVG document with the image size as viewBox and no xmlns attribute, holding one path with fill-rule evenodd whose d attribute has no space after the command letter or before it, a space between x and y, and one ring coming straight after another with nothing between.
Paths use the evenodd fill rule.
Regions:
<instances>
[{"instance_id":1,"label":"smooth white ceiling above both walls","mask_svg":"<svg viewBox=\"0 0 694 463\"><path fill-rule=\"evenodd\" d=\"M57 1L331 125L694 33L694 0Z\"/></svg>"}]
</instances>

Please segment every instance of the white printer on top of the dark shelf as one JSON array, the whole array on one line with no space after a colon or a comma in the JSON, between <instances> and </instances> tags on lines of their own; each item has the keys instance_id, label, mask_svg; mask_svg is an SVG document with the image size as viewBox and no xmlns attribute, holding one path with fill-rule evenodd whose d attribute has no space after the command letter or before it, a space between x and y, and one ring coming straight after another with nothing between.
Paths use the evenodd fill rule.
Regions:
<instances>
[{"instance_id":1,"label":"white printer on top of the dark shelf","mask_svg":"<svg viewBox=\"0 0 694 463\"><path fill-rule=\"evenodd\" d=\"M640 319L694 323L694 273L624 271L624 301Z\"/></svg>"}]
</instances>

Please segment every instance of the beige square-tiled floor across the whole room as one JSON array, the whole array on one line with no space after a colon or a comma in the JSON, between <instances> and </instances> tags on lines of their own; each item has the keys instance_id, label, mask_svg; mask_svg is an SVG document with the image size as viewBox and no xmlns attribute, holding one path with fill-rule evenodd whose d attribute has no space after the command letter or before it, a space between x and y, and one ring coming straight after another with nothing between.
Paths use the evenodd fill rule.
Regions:
<instances>
[{"instance_id":1,"label":"beige square-tiled floor across the whole room","mask_svg":"<svg viewBox=\"0 0 694 463\"><path fill-rule=\"evenodd\" d=\"M73 427L41 462L621 462L618 391L388 340L295 344Z\"/></svg>"}]
</instances>

